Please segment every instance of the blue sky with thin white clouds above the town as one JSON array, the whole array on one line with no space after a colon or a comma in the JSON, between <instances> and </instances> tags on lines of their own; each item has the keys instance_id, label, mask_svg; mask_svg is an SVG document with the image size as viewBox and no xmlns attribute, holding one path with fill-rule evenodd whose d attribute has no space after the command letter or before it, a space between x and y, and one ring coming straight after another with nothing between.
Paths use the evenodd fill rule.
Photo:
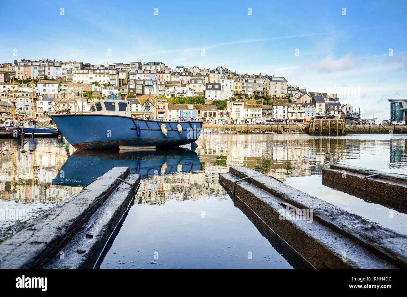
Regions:
<instances>
[{"instance_id":1,"label":"blue sky with thin white clouds above the town","mask_svg":"<svg viewBox=\"0 0 407 297\"><path fill-rule=\"evenodd\" d=\"M342 92L342 103L383 120L388 98L407 98L406 3L9 1L0 11L9 20L0 32L0 62L223 66L284 76L311 92Z\"/></svg>"}]
</instances>

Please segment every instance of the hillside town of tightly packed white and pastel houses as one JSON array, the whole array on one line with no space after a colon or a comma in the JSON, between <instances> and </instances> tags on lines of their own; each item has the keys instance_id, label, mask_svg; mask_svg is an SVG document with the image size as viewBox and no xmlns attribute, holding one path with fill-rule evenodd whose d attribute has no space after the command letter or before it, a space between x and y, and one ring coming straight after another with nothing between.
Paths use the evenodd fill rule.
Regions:
<instances>
[{"instance_id":1,"label":"hillside town of tightly packed white and pastel houses","mask_svg":"<svg viewBox=\"0 0 407 297\"><path fill-rule=\"evenodd\" d=\"M90 112L97 99L125 99L142 118L204 123L307 123L318 115L374 122L335 93L309 92L285 77L214 69L174 69L163 62L90 65L55 60L0 64L1 112L33 116L61 108ZM34 100L33 100L34 99ZM34 111L35 104L35 111Z\"/></svg>"}]
</instances>

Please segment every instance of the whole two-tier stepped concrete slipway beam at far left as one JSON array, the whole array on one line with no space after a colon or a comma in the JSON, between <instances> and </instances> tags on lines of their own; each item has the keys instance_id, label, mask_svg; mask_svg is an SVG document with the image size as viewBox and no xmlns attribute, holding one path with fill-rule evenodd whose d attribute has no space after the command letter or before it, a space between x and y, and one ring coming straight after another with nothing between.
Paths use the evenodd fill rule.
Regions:
<instances>
[{"instance_id":1,"label":"whole two-tier stepped concrete slipway beam at far left","mask_svg":"<svg viewBox=\"0 0 407 297\"><path fill-rule=\"evenodd\" d=\"M140 174L114 167L0 244L0 268L93 268L120 228Z\"/></svg>"}]
</instances>

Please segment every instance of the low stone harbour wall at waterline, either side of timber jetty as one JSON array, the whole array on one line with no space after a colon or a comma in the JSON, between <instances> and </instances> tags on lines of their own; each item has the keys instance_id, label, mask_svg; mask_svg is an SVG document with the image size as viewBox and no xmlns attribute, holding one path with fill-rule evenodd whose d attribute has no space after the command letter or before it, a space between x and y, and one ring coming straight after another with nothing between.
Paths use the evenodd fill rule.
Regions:
<instances>
[{"instance_id":1,"label":"low stone harbour wall at waterline, either side of timber jetty","mask_svg":"<svg viewBox=\"0 0 407 297\"><path fill-rule=\"evenodd\" d=\"M260 124L205 124L202 129L212 129L212 133L219 133L223 129L234 129L239 133L250 133L257 130L261 132L281 133L298 130L299 133L306 132L303 124L294 125L260 125ZM348 134L402 134L407 133L407 125L345 125ZM405 132L403 131L405 130Z\"/></svg>"}]
</instances>

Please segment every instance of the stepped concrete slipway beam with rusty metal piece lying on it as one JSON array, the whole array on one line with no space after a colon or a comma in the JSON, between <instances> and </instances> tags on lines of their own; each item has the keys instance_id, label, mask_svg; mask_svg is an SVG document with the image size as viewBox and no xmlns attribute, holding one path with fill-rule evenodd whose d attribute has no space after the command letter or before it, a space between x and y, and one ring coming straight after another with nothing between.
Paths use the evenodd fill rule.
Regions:
<instances>
[{"instance_id":1,"label":"stepped concrete slipway beam with rusty metal piece lying on it","mask_svg":"<svg viewBox=\"0 0 407 297\"><path fill-rule=\"evenodd\" d=\"M231 166L219 180L315 268L407 267L406 235L249 168Z\"/></svg>"}]
</instances>

